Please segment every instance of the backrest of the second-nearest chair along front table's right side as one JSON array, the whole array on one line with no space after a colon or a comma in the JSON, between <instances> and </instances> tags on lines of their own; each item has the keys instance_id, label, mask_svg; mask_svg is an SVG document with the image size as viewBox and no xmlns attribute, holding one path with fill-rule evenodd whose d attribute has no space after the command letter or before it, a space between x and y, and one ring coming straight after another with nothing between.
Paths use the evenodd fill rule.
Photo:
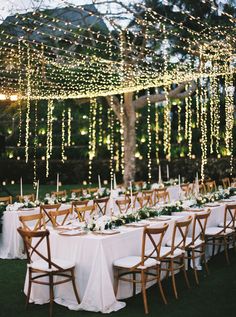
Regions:
<instances>
[{"instance_id":1,"label":"backrest of the second-nearest chair along front table's right side","mask_svg":"<svg viewBox=\"0 0 236 317\"><path fill-rule=\"evenodd\" d=\"M191 221L192 216L188 216L186 220L175 221L170 254L174 254L176 249L185 249L186 237Z\"/></svg>"}]
</instances>

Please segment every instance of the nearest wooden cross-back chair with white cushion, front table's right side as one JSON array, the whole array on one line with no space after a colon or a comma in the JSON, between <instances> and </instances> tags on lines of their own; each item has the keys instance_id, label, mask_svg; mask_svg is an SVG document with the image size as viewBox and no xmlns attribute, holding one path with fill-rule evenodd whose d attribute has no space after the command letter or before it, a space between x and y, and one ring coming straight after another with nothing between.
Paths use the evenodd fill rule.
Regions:
<instances>
[{"instance_id":1,"label":"nearest wooden cross-back chair with white cushion, front table's right side","mask_svg":"<svg viewBox=\"0 0 236 317\"><path fill-rule=\"evenodd\" d=\"M158 283L162 299L165 304L167 303L160 278L160 249L167 228L168 224L156 228L144 228L141 254L120 258L113 263L115 294L117 294L119 281L133 284L133 296L136 293L136 284L140 283L145 314L148 314L146 295L146 284L148 282L156 281ZM147 242L151 244L151 248L148 251L146 251ZM150 270L152 271L150 272Z\"/></svg>"}]
</instances>

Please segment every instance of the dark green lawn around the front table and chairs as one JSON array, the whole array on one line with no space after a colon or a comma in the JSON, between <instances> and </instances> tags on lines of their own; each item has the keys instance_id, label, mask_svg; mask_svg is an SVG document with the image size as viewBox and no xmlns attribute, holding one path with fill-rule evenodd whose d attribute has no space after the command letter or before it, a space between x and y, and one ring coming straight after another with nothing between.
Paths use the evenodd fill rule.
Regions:
<instances>
[{"instance_id":1,"label":"dark green lawn around the front table and chairs","mask_svg":"<svg viewBox=\"0 0 236 317\"><path fill-rule=\"evenodd\" d=\"M224 254L209 262L210 275L200 272L200 285L196 286L192 271L189 271L191 289L187 289L182 274L178 274L179 299L173 296L171 281L163 281L168 299L164 305L158 288L148 290L150 317L235 317L236 315L236 254L230 251L231 264L225 262ZM0 316L1 317L45 317L49 314L48 304L29 305L25 310L23 293L26 262L24 260L0 260ZM116 317L145 316L141 295L126 300L127 306L115 313ZM70 311L55 304L53 317L96 317L100 313Z\"/></svg>"}]
</instances>

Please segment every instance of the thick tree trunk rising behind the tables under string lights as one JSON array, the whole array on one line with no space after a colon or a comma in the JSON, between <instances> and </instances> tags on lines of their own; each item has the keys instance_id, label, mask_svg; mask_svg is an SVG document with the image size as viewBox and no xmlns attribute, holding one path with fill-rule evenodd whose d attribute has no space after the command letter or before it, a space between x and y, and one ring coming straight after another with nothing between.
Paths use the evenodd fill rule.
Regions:
<instances>
[{"instance_id":1,"label":"thick tree trunk rising behind the tables under string lights","mask_svg":"<svg viewBox=\"0 0 236 317\"><path fill-rule=\"evenodd\" d=\"M133 93L124 94L124 184L129 185L135 178L135 132L136 113Z\"/></svg>"}]
</instances>

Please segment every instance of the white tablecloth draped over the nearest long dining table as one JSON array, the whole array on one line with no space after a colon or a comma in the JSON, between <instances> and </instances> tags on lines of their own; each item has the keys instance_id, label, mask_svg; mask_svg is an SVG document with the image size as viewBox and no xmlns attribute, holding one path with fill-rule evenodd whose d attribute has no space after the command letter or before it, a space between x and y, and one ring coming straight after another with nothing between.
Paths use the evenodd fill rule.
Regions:
<instances>
[{"instance_id":1,"label":"white tablecloth draped over the nearest long dining table","mask_svg":"<svg viewBox=\"0 0 236 317\"><path fill-rule=\"evenodd\" d=\"M230 202L232 203L232 202ZM227 202L211 204L211 214L208 226L217 226L223 221L224 209ZM160 216L158 221L146 222L149 226L158 226L168 223L169 227L163 239L163 245L171 240L175 221L184 220L195 211L174 213L171 216ZM122 299L132 295L132 285L120 282L117 297L113 289L113 262L121 257L139 255L141 253L141 241L143 227L121 226L119 233L114 235L98 235L89 232L79 236L61 235L58 230L50 229L50 242L52 256L64 258L75 263L76 284L81 298L77 304L71 285L55 287L55 302L67 306L72 310L88 310L94 312L110 313L125 306ZM190 227L189 235L192 228ZM149 247L149 246L147 246ZM41 249L43 251L43 247ZM210 250L207 250L208 257ZM199 266L199 269L201 267ZM25 280L25 292L27 290L27 277ZM137 292L139 292L137 288ZM48 292L43 286L34 285L32 288L32 302L42 304L49 300Z\"/></svg>"}]
</instances>

